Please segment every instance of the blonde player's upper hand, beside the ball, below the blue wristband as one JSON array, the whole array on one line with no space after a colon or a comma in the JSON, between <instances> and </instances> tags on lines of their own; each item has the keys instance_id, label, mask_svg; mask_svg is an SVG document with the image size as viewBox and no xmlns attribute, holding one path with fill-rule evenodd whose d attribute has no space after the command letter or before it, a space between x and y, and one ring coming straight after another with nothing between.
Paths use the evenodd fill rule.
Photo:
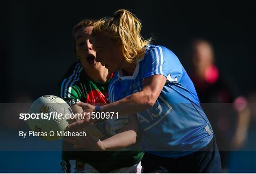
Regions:
<instances>
[{"instance_id":1,"label":"blonde player's upper hand, beside the ball, below the blue wristband","mask_svg":"<svg viewBox=\"0 0 256 174\"><path fill-rule=\"evenodd\" d=\"M95 106L87 103L77 102L78 106L82 107L82 115L84 116L83 119L68 119L71 122L68 125L69 129L82 129L83 127L91 124L92 122L96 122L96 119L90 119L91 113L95 110Z\"/></svg>"}]
</instances>

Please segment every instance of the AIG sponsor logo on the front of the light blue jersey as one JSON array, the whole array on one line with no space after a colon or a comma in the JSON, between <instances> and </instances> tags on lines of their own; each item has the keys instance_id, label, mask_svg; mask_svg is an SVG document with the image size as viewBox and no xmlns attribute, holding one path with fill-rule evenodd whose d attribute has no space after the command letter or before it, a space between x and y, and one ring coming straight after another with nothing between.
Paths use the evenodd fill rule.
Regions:
<instances>
[{"instance_id":1,"label":"AIG sponsor logo on the front of the light blue jersey","mask_svg":"<svg viewBox=\"0 0 256 174\"><path fill-rule=\"evenodd\" d=\"M161 122L173 109L162 96L159 96L158 103L155 103L153 107L144 112L137 113L137 118L144 131L153 128Z\"/></svg>"}]
</instances>

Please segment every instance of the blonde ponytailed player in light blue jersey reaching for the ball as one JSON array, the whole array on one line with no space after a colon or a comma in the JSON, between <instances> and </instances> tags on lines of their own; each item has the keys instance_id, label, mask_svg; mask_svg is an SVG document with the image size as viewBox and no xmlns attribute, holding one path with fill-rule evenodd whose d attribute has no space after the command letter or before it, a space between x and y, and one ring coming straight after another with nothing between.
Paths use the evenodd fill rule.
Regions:
<instances>
[{"instance_id":1,"label":"blonde ponytailed player in light blue jersey reaching for the ball","mask_svg":"<svg viewBox=\"0 0 256 174\"><path fill-rule=\"evenodd\" d=\"M116 72L109 87L112 103L96 107L77 105L89 114L137 113L137 122L145 135L142 166L146 173L220 173L214 134L191 79L171 50L150 44L140 30L137 17L124 9L96 22L92 33L96 61ZM69 127L94 121L86 117ZM103 141L90 134L66 140L74 147L94 143L98 150L110 150L130 146L136 135L136 130L127 130Z\"/></svg>"}]
</instances>

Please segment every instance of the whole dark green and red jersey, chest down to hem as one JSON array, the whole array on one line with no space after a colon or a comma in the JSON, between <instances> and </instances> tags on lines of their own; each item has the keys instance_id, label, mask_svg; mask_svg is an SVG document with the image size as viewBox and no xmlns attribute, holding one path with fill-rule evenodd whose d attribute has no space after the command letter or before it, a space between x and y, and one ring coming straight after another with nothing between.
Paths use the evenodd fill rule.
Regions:
<instances>
[{"instance_id":1,"label":"whole dark green and red jersey, chest down to hem","mask_svg":"<svg viewBox=\"0 0 256 174\"><path fill-rule=\"evenodd\" d=\"M87 76L80 62L75 62L66 72L60 83L60 96L69 104L78 101L93 105L109 103L108 86ZM100 172L106 173L120 167L128 167L141 161L144 153L140 151L71 151L73 145L63 142L62 158L64 160L82 160L93 165ZM68 149L68 150L66 150Z\"/></svg>"}]
</instances>

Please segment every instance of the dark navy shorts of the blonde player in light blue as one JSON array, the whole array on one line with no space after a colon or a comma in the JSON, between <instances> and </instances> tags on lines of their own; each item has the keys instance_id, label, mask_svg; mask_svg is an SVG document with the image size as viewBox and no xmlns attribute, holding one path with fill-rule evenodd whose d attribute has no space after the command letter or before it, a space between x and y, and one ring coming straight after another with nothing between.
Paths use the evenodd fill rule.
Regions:
<instances>
[{"instance_id":1,"label":"dark navy shorts of the blonde player in light blue","mask_svg":"<svg viewBox=\"0 0 256 174\"><path fill-rule=\"evenodd\" d=\"M221 173L216 140L199 151L184 157L159 157L145 153L141 165L143 173Z\"/></svg>"}]
</instances>

